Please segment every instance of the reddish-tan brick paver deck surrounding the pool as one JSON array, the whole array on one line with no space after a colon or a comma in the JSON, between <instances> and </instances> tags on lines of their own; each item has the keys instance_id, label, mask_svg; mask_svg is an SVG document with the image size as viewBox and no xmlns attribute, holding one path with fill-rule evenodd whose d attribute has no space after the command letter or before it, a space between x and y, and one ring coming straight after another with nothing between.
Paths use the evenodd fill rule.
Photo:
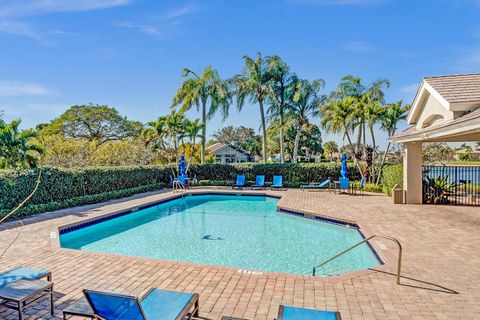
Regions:
<instances>
[{"instance_id":1,"label":"reddish-tan brick paver deck surrounding the pool","mask_svg":"<svg viewBox=\"0 0 480 320\"><path fill-rule=\"evenodd\" d=\"M197 190L198 191L198 190ZM396 247L372 244L387 264L337 278L239 272L155 259L61 249L52 245L58 226L171 196L149 193L121 201L60 210L4 224L0 272L25 265L53 272L56 317L48 303L26 310L28 319L61 319L61 310L83 288L141 295L151 287L197 292L200 316L273 319L280 304L340 311L343 319L480 319L480 209L393 205L382 195L348 196L289 190L279 206L357 222L367 235L383 233L404 246L402 285L395 282ZM321 244L319 244L321 245ZM0 308L0 319L16 319Z\"/></svg>"}]
</instances>

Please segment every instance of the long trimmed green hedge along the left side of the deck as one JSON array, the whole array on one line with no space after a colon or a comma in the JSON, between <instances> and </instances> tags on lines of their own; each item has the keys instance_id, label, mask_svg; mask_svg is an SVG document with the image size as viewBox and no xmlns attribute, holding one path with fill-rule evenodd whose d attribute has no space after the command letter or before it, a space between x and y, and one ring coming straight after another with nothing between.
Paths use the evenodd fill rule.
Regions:
<instances>
[{"instance_id":1,"label":"long trimmed green hedge along the left side of the deck","mask_svg":"<svg viewBox=\"0 0 480 320\"><path fill-rule=\"evenodd\" d=\"M0 172L0 216L32 192L37 175L36 170ZM44 168L41 181L38 191L18 215L159 189L168 181L168 170L164 167Z\"/></svg>"}]
</instances>

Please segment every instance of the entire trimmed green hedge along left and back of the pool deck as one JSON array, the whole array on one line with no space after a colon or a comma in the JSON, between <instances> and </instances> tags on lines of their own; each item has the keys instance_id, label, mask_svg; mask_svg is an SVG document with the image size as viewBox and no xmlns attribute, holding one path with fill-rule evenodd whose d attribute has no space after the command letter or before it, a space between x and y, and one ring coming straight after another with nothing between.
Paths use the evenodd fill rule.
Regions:
<instances>
[{"instance_id":1,"label":"entire trimmed green hedge along left and back of the pool deck","mask_svg":"<svg viewBox=\"0 0 480 320\"><path fill-rule=\"evenodd\" d=\"M350 178L359 180L353 164L349 169ZM298 187L301 183L336 180L339 172L340 165L332 163L247 163L192 165L189 175L209 181L234 180L237 174L245 174L249 181L254 181L257 174L264 174L266 181L272 181L274 175L283 175L285 186ZM168 185L171 174L171 167L162 166L44 168L37 193L17 217L160 189ZM36 170L0 172L0 216L32 192L37 175Z\"/></svg>"}]
</instances>

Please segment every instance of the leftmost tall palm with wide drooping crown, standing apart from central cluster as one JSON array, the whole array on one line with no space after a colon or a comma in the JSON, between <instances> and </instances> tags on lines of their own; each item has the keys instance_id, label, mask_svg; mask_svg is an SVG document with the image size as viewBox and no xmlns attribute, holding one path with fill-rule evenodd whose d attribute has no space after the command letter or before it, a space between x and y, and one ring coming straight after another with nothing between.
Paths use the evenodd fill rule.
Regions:
<instances>
[{"instance_id":1,"label":"leftmost tall palm with wide drooping crown, standing apart from central cluster","mask_svg":"<svg viewBox=\"0 0 480 320\"><path fill-rule=\"evenodd\" d=\"M223 119L228 116L230 93L227 83L210 66L206 67L201 75L185 68L183 69L183 77L185 80L173 98L172 107L181 105L181 113L191 109L193 106L196 106L197 110L202 109L201 163L203 164L205 163L207 120L211 119L219 109L222 112ZM210 104L208 111L207 104Z\"/></svg>"}]
</instances>

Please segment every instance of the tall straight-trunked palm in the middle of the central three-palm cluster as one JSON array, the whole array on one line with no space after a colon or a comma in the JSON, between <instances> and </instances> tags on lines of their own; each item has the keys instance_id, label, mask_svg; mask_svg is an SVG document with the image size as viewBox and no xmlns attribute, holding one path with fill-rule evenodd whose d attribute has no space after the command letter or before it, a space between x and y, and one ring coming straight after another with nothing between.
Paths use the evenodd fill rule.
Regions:
<instances>
[{"instance_id":1,"label":"tall straight-trunked palm in the middle of the central three-palm cluster","mask_svg":"<svg viewBox=\"0 0 480 320\"><path fill-rule=\"evenodd\" d=\"M290 72L288 65L282 61L279 56L266 57L269 73L272 75L270 82L270 90L268 94L269 108L267 114L270 120L279 119L279 134L280 134L280 162L285 160L284 151L284 124L285 124L285 109L287 108L287 101L293 94L293 87L296 76Z\"/></svg>"}]
</instances>

